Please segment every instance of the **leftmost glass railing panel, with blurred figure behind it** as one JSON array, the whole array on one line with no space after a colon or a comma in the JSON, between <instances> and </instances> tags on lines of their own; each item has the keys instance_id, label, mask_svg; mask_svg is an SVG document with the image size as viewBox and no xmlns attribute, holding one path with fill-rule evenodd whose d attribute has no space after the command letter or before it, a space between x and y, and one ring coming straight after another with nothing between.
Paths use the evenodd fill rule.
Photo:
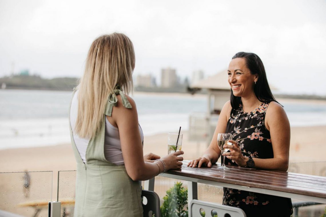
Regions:
<instances>
[{"instance_id":1,"label":"leftmost glass railing panel, with blurred figure behind it","mask_svg":"<svg viewBox=\"0 0 326 217\"><path fill-rule=\"evenodd\" d=\"M0 216L48 216L52 171L0 173Z\"/></svg>"}]
</instances>

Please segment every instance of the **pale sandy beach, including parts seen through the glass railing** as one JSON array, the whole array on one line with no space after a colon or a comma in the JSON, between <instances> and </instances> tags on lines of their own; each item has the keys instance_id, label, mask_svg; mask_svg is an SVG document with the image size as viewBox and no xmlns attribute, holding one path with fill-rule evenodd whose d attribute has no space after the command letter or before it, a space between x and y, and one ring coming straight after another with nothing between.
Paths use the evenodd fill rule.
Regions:
<instances>
[{"instance_id":1,"label":"pale sandy beach, including parts seen through the glass railing","mask_svg":"<svg viewBox=\"0 0 326 217\"><path fill-rule=\"evenodd\" d=\"M290 143L290 163L292 162L315 162L325 161L326 146L322 140L311 140L311 138L320 138L320 135L326 131L326 126L315 127L292 127L291 128L291 143ZM183 147L185 152L184 159L194 159L201 156L206 149L207 144L204 142L191 142L188 140L188 133L183 132ZM309 135L309 137L307 136ZM143 152L152 152L160 156L167 153L167 134L161 133L153 136L146 136L144 138ZM310 152L307 152L310 150ZM314 151L317 150L317 151ZM308 166L307 166L308 165ZM310 165L310 166L309 166ZM304 163L299 167L290 166L289 170L302 173L318 173L323 163L317 164L320 168L316 169L316 164ZM303 168L300 168L303 167ZM300 168L301 170L298 170ZM312 169L313 168L313 169ZM24 207L26 204L37 203L40 199L52 197L56 200L57 197L57 177L58 171L61 170L75 170L76 162L71 148L71 144L59 144L54 146L34 147L34 148L17 148L5 149L0 151L0 172L22 172L22 171L53 171L52 180L51 174L39 173L34 175L36 178L31 178L31 197L24 198L23 196L23 173L2 173L2 180L0 182L0 189L4 192L17 191L10 197L1 197L0 203L7 203L5 210L15 213L30 216L35 212L33 207ZM60 198L71 199L74 197L74 177L75 172L62 173L62 186L59 189ZM320 175L320 174L315 174ZM32 175L31 175L32 176ZM49 180L50 179L50 180ZM177 180L171 180L163 177L156 178L155 191L162 198L165 191L168 190ZM8 183L11 183L8 185ZM51 195L52 185L52 196ZM187 183L183 182L186 187ZM16 187L17 186L17 187ZM43 186L43 190L39 186ZM49 189L50 188L50 189ZM199 184L198 188L199 199L210 202L221 203L222 188L210 185ZM32 199L33 198L33 199ZM17 203L18 201L19 203ZM3 207L3 208L5 208ZM70 206L71 207L71 206ZM69 205L67 205L69 209ZM46 209L40 212L40 216L47 216Z\"/></svg>"}]
</instances>

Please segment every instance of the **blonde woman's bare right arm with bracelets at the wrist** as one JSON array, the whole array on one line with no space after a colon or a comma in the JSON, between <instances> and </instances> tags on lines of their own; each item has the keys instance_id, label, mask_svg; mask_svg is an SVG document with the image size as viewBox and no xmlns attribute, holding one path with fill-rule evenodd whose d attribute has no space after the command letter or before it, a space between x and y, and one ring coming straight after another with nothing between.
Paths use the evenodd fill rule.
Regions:
<instances>
[{"instance_id":1,"label":"blonde woman's bare right arm with bracelets at the wrist","mask_svg":"<svg viewBox=\"0 0 326 217\"><path fill-rule=\"evenodd\" d=\"M112 117L107 118L119 129L121 150L128 175L132 180L148 180L158 175L160 171L162 172L163 165L144 161L136 104L130 97L127 96L127 98L132 109L124 108L121 97L118 96L118 103L116 107L113 107ZM181 168L182 162L179 161L183 158L178 156L181 154L183 151L161 158L167 170Z\"/></svg>"}]
</instances>

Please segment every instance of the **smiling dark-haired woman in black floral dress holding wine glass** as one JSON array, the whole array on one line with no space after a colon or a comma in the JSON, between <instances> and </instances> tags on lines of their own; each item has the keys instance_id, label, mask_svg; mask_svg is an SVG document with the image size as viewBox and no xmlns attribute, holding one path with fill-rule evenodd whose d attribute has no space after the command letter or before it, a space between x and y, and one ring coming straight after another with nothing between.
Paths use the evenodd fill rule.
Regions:
<instances>
[{"instance_id":1,"label":"smiling dark-haired woman in black floral dress holding wine glass","mask_svg":"<svg viewBox=\"0 0 326 217\"><path fill-rule=\"evenodd\" d=\"M226 165L264 170L287 171L289 165L290 125L283 107L269 88L264 65L254 53L235 54L228 68L231 87L218 119L211 144L202 157L188 166L211 167L221 155L218 133L231 133L233 145ZM240 207L247 216L290 216L291 199L224 188L223 204Z\"/></svg>"}]
</instances>

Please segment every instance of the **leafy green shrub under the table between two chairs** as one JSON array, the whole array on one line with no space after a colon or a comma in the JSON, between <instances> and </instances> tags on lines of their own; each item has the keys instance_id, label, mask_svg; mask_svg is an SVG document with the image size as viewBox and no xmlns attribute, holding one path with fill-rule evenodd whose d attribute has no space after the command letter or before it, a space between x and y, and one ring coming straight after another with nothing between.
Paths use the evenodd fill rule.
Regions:
<instances>
[{"instance_id":1,"label":"leafy green shrub under the table between two chairs","mask_svg":"<svg viewBox=\"0 0 326 217\"><path fill-rule=\"evenodd\" d=\"M161 206L162 217L188 217L188 189L182 187L181 182L166 191Z\"/></svg>"}]
</instances>

